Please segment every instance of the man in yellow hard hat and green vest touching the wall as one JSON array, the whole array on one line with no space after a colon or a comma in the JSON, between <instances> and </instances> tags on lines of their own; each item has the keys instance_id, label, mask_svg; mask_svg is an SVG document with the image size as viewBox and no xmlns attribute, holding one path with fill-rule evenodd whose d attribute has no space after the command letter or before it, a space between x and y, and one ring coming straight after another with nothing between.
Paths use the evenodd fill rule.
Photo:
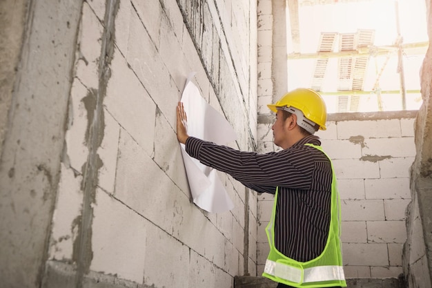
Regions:
<instances>
[{"instance_id":1,"label":"man in yellow hard hat and green vest touching the wall","mask_svg":"<svg viewBox=\"0 0 432 288\"><path fill-rule=\"evenodd\" d=\"M259 193L275 194L266 228L271 251L263 276L278 282L278 288L346 287L335 173L313 135L326 130L326 105L314 90L299 88L268 108L276 113L273 137L282 151L237 151L189 137L181 102L177 139L203 164Z\"/></svg>"}]
</instances>

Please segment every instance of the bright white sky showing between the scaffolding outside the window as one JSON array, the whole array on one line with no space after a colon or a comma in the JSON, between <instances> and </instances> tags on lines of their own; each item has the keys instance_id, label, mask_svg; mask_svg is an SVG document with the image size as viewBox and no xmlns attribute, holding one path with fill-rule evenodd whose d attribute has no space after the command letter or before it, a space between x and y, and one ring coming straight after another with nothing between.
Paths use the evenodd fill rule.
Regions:
<instances>
[{"instance_id":1,"label":"bright white sky showing between the scaffolding outside the window","mask_svg":"<svg viewBox=\"0 0 432 288\"><path fill-rule=\"evenodd\" d=\"M397 22L395 0L370 0L351 3L337 3L318 6L300 6L300 49L302 53L317 51L321 32L354 33L358 29L375 30L375 46L386 46L395 43ZM400 34L403 43L428 41L426 26L426 7L424 0L399 0ZM288 32L290 31L288 23ZM338 42L337 42L338 43ZM335 45L338 49L338 45ZM288 53L292 52L291 37L288 37ZM369 57L368 69L364 81L364 90L372 90L377 73L384 67L380 78L382 90L400 88L400 75L396 73L397 57L384 66L386 57ZM420 89L419 70L423 55L404 56L406 89ZM290 90L300 86L310 86L315 59L288 61L288 85ZM291 73L289 73L291 71ZM295 73L293 73L295 72ZM328 64L326 82L323 91L337 90L337 60L331 59ZM374 96L372 96L373 98ZM399 96L397 96L399 97ZM407 95L407 109L420 107L420 95ZM334 97L333 97L334 98ZM393 106L386 110L400 110L402 105L391 101ZM373 100L373 99L372 99ZM389 102L389 101L387 101ZM375 111L375 101L367 104L363 111ZM331 107L330 107L331 108ZM331 113L331 111L328 111Z\"/></svg>"}]
</instances>

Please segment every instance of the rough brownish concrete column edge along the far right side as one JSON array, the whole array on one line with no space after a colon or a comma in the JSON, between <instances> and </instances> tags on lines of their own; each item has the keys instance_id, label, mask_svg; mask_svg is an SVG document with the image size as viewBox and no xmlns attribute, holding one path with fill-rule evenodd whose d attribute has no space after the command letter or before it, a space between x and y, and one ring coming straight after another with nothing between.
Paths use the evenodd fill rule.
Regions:
<instances>
[{"instance_id":1,"label":"rough brownish concrete column edge along the far right side","mask_svg":"<svg viewBox=\"0 0 432 288\"><path fill-rule=\"evenodd\" d=\"M432 283L432 15L426 0L429 49L421 76L423 104L415 120L415 162L411 166L411 196L406 222L408 240L404 246L404 273L409 287L431 287Z\"/></svg>"}]
</instances>

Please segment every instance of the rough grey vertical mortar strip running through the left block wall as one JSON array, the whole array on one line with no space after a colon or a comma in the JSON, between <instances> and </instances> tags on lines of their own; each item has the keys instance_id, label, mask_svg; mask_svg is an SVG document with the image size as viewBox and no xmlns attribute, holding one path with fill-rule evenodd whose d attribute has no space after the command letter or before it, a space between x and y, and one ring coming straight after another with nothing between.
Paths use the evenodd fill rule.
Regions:
<instances>
[{"instance_id":1,"label":"rough grey vertical mortar strip running through the left block wall","mask_svg":"<svg viewBox=\"0 0 432 288\"><path fill-rule=\"evenodd\" d=\"M92 220L93 208L96 198L98 184L98 172L103 163L97 149L104 139L104 97L106 87L110 79L110 64L115 48L115 16L119 10L119 0L107 0L104 17L104 32L101 36L101 56L99 57L99 87L90 89L88 95L82 102L87 111L86 144L88 147L87 162L82 166L83 180L81 190L83 191L83 206L81 217L77 218L78 235L73 244L72 259L77 263L75 275L75 287L81 288L84 285L85 275L90 272L92 253Z\"/></svg>"}]
</instances>

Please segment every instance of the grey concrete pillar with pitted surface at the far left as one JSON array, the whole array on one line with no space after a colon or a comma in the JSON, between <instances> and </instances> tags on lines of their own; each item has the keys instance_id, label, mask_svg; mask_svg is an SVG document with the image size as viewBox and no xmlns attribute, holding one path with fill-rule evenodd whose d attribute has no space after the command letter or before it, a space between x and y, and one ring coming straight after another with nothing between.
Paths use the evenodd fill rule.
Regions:
<instances>
[{"instance_id":1,"label":"grey concrete pillar with pitted surface at the far left","mask_svg":"<svg viewBox=\"0 0 432 288\"><path fill-rule=\"evenodd\" d=\"M81 1L10 2L0 4L1 23L10 23L1 26L2 35L14 35L7 38L11 41L2 38L0 52L6 62L2 75L3 69L8 73L0 85L0 279L3 287L39 287L48 258Z\"/></svg>"}]
</instances>

